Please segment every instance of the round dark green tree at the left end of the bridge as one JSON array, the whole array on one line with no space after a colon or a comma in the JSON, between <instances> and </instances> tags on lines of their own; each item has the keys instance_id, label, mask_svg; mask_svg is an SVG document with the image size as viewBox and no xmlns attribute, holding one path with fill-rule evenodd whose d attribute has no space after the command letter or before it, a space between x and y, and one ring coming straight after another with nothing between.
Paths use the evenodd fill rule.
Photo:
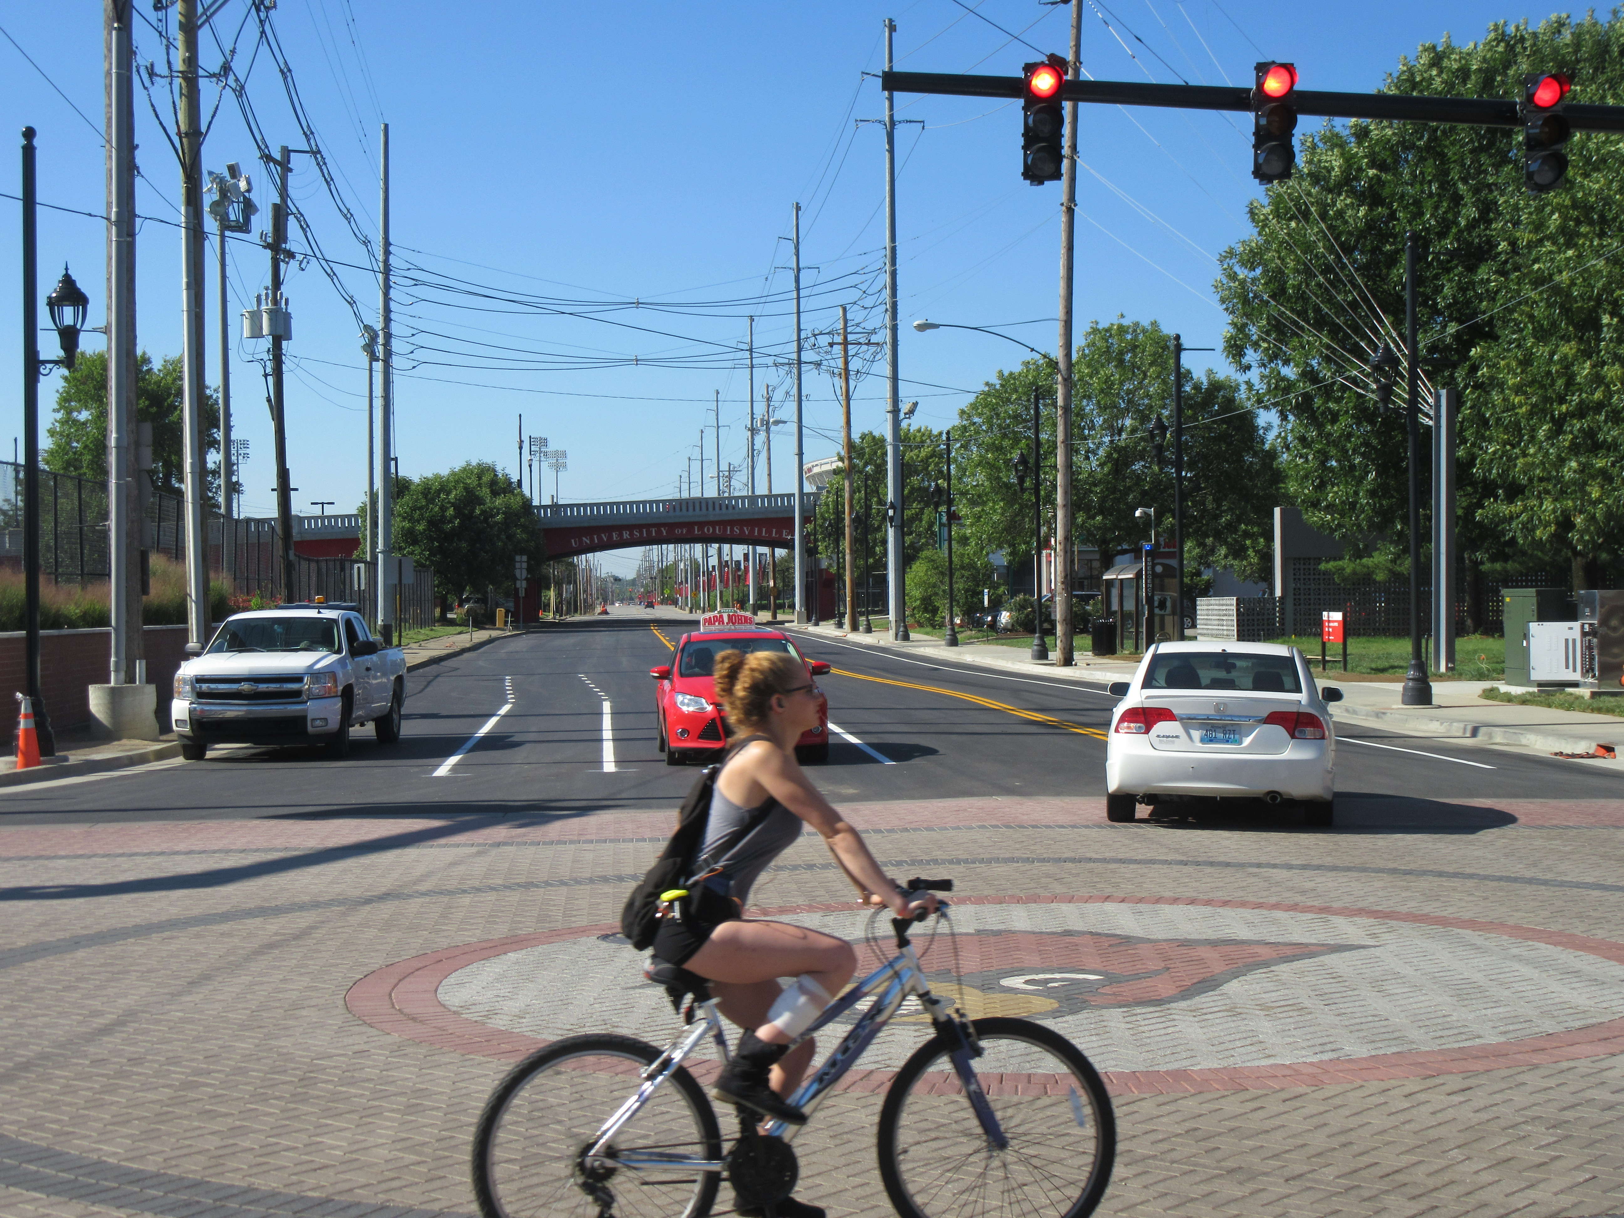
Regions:
<instances>
[{"instance_id":1,"label":"round dark green tree at the left end of the bridge","mask_svg":"<svg viewBox=\"0 0 1624 1218\"><path fill-rule=\"evenodd\" d=\"M469 461L409 484L401 479L395 549L414 564L434 567L443 596L507 588L513 583L513 555L528 555L531 570L544 559L529 500L490 461Z\"/></svg>"}]
</instances>

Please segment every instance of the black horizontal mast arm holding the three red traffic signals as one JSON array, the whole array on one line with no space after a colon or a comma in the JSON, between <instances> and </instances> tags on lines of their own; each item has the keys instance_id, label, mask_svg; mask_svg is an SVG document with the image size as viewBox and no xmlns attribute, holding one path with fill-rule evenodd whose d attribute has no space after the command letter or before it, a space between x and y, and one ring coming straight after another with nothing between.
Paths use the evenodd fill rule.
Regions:
<instances>
[{"instance_id":1,"label":"black horizontal mast arm holding the three red traffic signals","mask_svg":"<svg viewBox=\"0 0 1624 1218\"><path fill-rule=\"evenodd\" d=\"M1023 76L957 76L939 71L885 71L887 93L934 93L955 97L1025 97ZM1252 110L1252 89L1215 84L1142 84L1137 81L1069 80L1060 97L1101 106L1156 106L1177 110ZM1320 119L1385 119L1389 122L1522 127L1515 99L1415 97L1395 93L1324 93L1294 89L1291 109ZM1624 106L1569 102L1562 112L1575 132L1624 132Z\"/></svg>"}]
</instances>

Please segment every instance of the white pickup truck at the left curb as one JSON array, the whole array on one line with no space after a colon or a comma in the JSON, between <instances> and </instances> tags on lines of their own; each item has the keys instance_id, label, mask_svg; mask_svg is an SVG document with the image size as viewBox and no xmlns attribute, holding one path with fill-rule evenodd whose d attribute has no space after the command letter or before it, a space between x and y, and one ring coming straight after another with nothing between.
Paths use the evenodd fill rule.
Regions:
<instances>
[{"instance_id":1,"label":"white pickup truck at the left curb","mask_svg":"<svg viewBox=\"0 0 1624 1218\"><path fill-rule=\"evenodd\" d=\"M406 705L406 656L367 630L354 604L284 604L227 617L175 672L169 719L180 755L211 744L320 744L349 755L349 729L372 723L395 744Z\"/></svg>"}]
</instances>

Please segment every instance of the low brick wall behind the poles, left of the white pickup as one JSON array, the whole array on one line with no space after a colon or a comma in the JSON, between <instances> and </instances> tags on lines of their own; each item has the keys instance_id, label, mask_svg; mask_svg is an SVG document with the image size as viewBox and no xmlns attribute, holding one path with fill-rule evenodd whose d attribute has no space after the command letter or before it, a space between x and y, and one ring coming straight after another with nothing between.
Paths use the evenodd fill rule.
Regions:
<instances>
[{"instance_id":1,"label":"low brick wall behind the poles, left of the white pickup","mask_svg":"<svg viewBox=\"0 0 1624 1218\"><path fill-rule=\"evenodd\" d=\"M149 625L145 628L146 680L158 685L159 731L167 728L169 693L175 669L187 658L184 625ZM0 632L0 716L16 721L16 693L23 692L21 630ZM41 630L39 685L57 731L83 731L91 724L91 685L107 684L112 656L112 630ZM10 741L10 734L5 737ZM10 750L10 744L3 745Z\"/></svg>"}]
</instances>

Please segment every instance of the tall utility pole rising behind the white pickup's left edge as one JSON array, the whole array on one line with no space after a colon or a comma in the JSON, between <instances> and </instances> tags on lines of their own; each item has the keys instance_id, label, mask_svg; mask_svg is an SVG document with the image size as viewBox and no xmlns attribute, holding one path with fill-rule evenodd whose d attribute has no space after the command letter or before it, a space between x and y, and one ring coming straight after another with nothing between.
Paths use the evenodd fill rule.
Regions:
<instances>
[{"instance_id":1,"label":"tall utility pole rising behind the white pickup's left edge","mask_svg":"<svg viewBox=\"0 0 1624 1218\"><path fill-rule=\"evenodd\" d=\"M198 97L198 0L179 0L180 36L180 352L182 479L187 510L187 638L206 641L208 534L203 505L203 107Z\"/></svg>"}]
</instances>

